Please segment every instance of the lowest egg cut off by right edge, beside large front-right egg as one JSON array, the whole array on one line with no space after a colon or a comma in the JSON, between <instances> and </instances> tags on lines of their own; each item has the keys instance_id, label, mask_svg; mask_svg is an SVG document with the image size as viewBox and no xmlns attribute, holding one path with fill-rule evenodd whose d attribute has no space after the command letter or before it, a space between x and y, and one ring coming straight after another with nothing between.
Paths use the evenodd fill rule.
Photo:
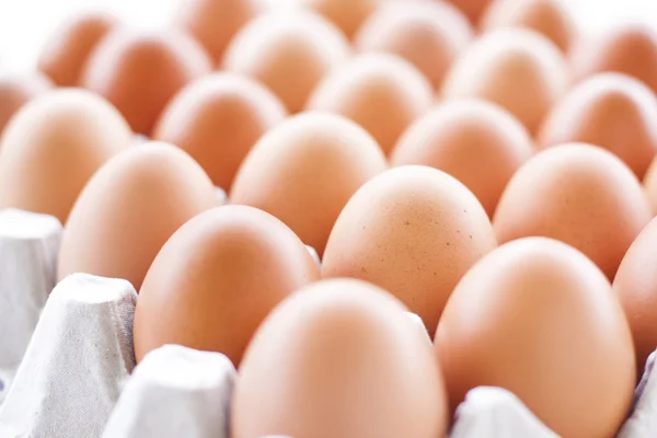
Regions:
<instances>
[{"instance_id":1,"label":"lowest egg cut off by right edge, beside large front-right egg","mask_svg":"<svg viewBox=\"0 0 657 438\"><path fill-rule=\"evenodd\" d=\"M627 316L636 350L637 378L657 349L657 219L638 234L613 280Z\"/></svg>"}]
</instances>

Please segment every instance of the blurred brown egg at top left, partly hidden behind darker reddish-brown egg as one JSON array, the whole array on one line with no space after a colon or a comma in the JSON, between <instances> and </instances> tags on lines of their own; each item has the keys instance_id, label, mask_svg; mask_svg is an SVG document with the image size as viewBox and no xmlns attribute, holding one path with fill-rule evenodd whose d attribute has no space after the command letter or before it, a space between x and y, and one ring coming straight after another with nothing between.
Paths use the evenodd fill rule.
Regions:
<instances>
[{"instance_id":1,"label":"blurred brown egg at top left, partly hidden behind darker reddish-brown egg","mask_svg":"<svg viewBox=\"0 0 657 438\"><path fill-rule=\"evenodd\" d=\"M64 23L48 39L38 69L59 87L76 87L91 53L101 39L118 26L110 14L78 15Z\"/></svg>"}]
</instances>

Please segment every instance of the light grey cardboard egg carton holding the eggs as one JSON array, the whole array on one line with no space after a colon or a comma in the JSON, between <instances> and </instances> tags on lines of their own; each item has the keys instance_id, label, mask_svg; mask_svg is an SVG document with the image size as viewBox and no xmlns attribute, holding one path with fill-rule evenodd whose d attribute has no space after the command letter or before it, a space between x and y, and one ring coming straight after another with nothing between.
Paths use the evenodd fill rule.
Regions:
<instances>
[{"instance_id":1,"label":"light grey cardboard egg carton holding the eggs","mask_svg":"<svg viewBox=\"0 0 657 438\"><path fill-rule=\"evenodd\" d=\"M135 289L83 274L55 287L60 234L51 217L0 211L0 438L228 438L230 360L168 345L135 367ZM657 436L655 358L619 437ZM556 434L508 391L476 388L450 437Z\"/></svg>"}]
</instances>

